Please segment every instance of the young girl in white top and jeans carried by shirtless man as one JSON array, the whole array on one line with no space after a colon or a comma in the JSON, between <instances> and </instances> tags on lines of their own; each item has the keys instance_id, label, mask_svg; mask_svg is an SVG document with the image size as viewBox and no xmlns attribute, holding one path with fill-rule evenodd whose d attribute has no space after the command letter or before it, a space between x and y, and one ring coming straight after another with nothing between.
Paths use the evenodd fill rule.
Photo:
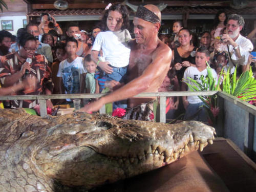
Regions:
<instances>
[{"instance_id":1,"label":"young girl in white top and jeans carried by shirtless man","mask_svg":"<svg viewBox=\"0 0 256 192\"><path fill-rule=\"evenodd\" d=\"M92 48L92 60L104 71L107 81L121 81L126 73L130 58L128 42L131 35L129 27L129 15L125 6L109 4L105 8L100 32L94 41ZM102 49L103 57L99 57Z\"/></svg>"}]
</instances>

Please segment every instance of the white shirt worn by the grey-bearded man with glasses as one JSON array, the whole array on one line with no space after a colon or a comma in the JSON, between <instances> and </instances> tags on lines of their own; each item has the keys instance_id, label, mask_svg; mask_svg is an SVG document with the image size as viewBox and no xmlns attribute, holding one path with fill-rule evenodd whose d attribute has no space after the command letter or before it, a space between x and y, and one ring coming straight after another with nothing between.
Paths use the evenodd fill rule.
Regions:
<instances>
[{"instance_id":1,"label":"white shirt worn by the grey-bearded man with glasses","mask_svg":"<svg viewBox=\"0 0 256 192\"><path fill-rule=\"evenodd\" d=\"M233 66L247 65L250 52L253 50L252 42L249 39L247 39L246 37L243 37L241 34L239 34L238 38L234 42L237 43L242 58L238 58L233 46L228 45L228 49L229 49L232 60L234 62L237 62L237 63L233 63L232 60L229 58L229 61L228 61L229 65L230 66L232 66L232 65ZM226 44L221 45L220 52L222 52L222 51L226 51L228 53Z\"/></svg>"}]
</instances>

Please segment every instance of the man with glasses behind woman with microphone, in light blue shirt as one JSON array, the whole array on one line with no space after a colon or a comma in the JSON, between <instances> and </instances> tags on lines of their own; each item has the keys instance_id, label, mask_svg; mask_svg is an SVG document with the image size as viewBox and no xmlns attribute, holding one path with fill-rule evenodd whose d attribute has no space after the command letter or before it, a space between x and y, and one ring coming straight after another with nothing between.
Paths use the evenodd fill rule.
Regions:
<instances>
[{"instance_id":1,"label":"man with glasses behind woman with microphone, in light blue shirt","mask_svg":"<svg viewBox=\"0 0 256 192\"><path fill-rule=\"evenodd\" d=\"M36 38L36 53L45 55L49 62L53 62L52 49L48 44L44 44L39 41L39 29L36 24L30 23L26 26L28 33Z\"/></svg>"}]
</instances>

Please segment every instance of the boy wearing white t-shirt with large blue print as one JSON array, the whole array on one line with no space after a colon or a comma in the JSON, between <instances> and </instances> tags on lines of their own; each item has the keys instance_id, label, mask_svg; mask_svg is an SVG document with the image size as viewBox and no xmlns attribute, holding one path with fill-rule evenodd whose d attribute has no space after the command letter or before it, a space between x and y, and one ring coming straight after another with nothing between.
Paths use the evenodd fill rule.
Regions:
<instances>
[{"instance_id":1,"label":"boy wearing white t-shirt with large blue print","mask_svg":"<svg viewBox=\"0 0 256 192\"><path fill-rule=\"evenodd\" d=\"M78 57L76 54L78 48L78 42L74 37L69 37L66 40L66 52L67 59L59 63L59 70L57 77L59 77L59 89L63 94L62 84L65 87L65 91L68 94L80 93L80 79L81 74L86 73L83 68L83 58ZM66 99L71 101L70 99Z\"/></svg>"}]
</instances>

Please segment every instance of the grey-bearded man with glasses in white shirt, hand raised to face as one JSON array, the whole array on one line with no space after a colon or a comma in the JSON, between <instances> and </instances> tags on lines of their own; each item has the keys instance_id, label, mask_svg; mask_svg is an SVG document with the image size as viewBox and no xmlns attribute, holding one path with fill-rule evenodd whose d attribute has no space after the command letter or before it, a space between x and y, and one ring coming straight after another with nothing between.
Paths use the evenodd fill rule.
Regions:
<instances>
[{"instance_id":1,"label":"grey-bearded man with glasses in white shirt, hand raised to face","mask_svg":"<svg viewBox=\"0 0 256 192\"><path fill-rule=\"evenodd\" d=\"M228 65L230 67L241 66L243 72L247 69L248 58L253 50L251 41L240 34L244 24L244 18L241 15L231 14L228 17L226 33L215 44L217 51L228 53Z\"/></svg>"}]
</instances>

